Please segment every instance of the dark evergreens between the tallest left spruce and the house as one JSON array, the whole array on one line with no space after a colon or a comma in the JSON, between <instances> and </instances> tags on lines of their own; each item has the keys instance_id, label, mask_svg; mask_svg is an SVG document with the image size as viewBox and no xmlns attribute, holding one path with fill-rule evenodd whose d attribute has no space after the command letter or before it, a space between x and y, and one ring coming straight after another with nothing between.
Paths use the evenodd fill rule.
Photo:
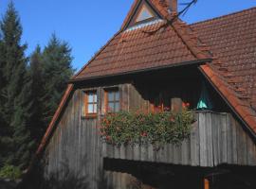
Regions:
<instances>
[{"instance_id":1,"label":"dark evergreens between the tallest left spruce and the house","mask_svg":"<svg viewBox=\"0 0 256 189\"><path fill-rule=\"evenodd\" d=\"M38 144L73 75L71 48L52 35L45 49L37 46L29 62L31 80L31 135Z\"/></svg>"}]
</instances>

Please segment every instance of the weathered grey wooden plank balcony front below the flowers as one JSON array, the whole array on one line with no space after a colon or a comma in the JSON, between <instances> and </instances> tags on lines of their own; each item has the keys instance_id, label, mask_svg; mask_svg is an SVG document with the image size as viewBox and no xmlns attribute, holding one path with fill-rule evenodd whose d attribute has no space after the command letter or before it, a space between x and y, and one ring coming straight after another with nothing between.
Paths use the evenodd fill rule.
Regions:
<instances>
[{"instance_id":1,"label":"weathered grey wooden plank balcony front below the flowers","mask_svg":"<svg viewBox=\"0 0 256 189\"><path fill-rule=\"evenodd\" d=\"M161 149L103 145L103 157L130 161L202 167L220 164L256 165L255 142L229 113L197 112L189 139Z\"/></svg>"}]
</instances>

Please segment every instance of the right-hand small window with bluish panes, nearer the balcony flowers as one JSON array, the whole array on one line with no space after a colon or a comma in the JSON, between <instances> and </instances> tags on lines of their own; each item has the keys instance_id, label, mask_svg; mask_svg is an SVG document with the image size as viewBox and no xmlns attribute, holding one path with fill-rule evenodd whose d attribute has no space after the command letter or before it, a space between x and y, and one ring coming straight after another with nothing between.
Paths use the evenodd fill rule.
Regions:
<instances>
[{"instance_id":1,"label":"right-hand small window with bluish panes, nearer the balcony flowers","mask_svg":"<svg viewBox=\"0 0 256 189\"><path fill-rule=\"evenodd\" d=\"M105 91L106 112L119 112L119 89L109 89Z\"/></svg>"}]
</instances>

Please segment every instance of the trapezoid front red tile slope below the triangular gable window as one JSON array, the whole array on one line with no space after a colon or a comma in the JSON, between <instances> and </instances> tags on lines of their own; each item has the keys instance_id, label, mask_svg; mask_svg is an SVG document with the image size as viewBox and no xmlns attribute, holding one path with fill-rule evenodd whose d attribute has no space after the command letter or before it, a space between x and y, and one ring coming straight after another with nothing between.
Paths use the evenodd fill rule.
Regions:
<instances>
[{"instance_id":1,"label":"trapezoid front red tile slope below the triangular gable window","mask_svg":"<svg viewBox=\"0 0 256 189\"><path fill-rule=\"evenodd\" d=\"M119 33L76 79L110 76L196 60L172 26L164 25L160 22Z\"/></svg>"}]
</instances>

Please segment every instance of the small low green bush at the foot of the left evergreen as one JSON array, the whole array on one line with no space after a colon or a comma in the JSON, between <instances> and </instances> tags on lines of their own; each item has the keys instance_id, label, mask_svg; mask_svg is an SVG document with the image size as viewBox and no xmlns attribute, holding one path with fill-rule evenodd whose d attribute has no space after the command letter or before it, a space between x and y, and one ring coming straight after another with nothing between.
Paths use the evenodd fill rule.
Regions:
<instances>
[{"instance_id":1,"label":"small low green bush at the foot of the left evergreen","mask_svg":"<svg viewBox=\"0 0 256 189\"><path fill-rule=\"evenodd\" d=\"M13 165L5 165L0 169L1 179L17 180L22 176L21 169Z\"/></svg>"}]
</instances>

